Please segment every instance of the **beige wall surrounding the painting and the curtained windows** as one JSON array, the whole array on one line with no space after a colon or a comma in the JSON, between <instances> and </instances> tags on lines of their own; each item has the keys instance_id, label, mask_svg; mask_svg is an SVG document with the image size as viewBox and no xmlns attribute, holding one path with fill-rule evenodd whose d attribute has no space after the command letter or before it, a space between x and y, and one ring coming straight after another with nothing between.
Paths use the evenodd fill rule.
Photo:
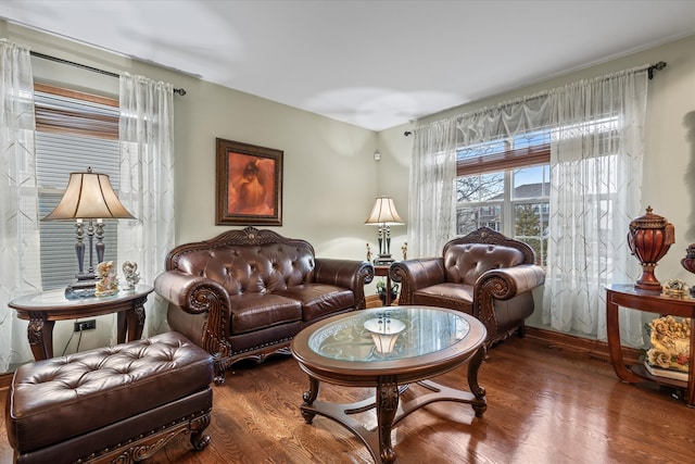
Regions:
<instances>
[{"instance_id":1,"label":"beige wall surrounding the painting and the curtained windows","mask_svg":"<svg viewBox=\"0 0 695 464\"><path fill-rule=\"evenodd\" d=\"M142 74L187 90L186 97L175 97L178 243L211 238L230 228L215 225L216 137L285 151L283 225L273 228L289 237L309 240L320 256L364 259L366 242L376 250L376 230L363 223L377 196L393 197L399 212L408 222L412 137L403 133L412 128L409 124L376 134L4 22L0 22L0 33L1 37L38 52L115 73ZM424 122L581 78L666 61L668 66L657 72L649 84L643 205L650 204L655 213L675 226L677 242L657 267L657 277L681 278L695 285L695 276L680 266L685 247L695 242L693 50L695 36L453 109ZM35 73L37 79L77 83L84 90L117 93L116 79L71 66L37 59ZM276 76L268 78L281 75L278 70ZM374 161L376 150L380 151L381 161ZM643 213L635 211L634 216ZM628 224L626 233L627 228ZM401 258L406 233L407 225L392 228L395 258Z\"/></svg>"}]
</instances>

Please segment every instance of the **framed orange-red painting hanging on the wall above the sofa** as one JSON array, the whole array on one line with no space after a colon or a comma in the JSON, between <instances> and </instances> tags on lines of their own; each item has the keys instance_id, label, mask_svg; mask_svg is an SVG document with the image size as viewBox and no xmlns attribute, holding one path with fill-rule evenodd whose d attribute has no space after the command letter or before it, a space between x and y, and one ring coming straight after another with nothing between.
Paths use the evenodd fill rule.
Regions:
<instances>
[{"instance_id":1,"label":"framed orange-red painting hanging on the wall above the sofa","mask_svg":"<svg viewBox=\"0 0 695 464\"><path fill-rule=\"evenodd\" d=\"M216 225L282 225L281 150L217 139Z\"/></svg>"}]
</instances>

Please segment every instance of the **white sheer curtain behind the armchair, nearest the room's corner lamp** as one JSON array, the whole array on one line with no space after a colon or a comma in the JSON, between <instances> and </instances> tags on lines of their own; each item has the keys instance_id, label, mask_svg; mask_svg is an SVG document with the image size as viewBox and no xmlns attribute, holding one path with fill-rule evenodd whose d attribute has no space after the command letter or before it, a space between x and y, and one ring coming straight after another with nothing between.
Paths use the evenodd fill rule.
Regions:
<instances>
[{"instance_id":1,"label":"white sheer curtain behind the armchair, nearest the room's corner lamp","mask_svg":"<svg viewBox=\"0 0 695 464\"><path fill-rule=\"evenodd\" d=\"M438 256L456 234L455 121L415 130L410 165L408 253Z\"/></svg>"}]
</instances>

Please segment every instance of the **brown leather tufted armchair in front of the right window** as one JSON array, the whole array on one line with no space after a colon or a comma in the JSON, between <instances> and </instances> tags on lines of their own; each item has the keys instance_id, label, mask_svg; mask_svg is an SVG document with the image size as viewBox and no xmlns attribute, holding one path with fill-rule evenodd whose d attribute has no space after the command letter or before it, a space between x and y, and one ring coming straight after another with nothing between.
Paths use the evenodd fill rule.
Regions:
<instances>
[{"instance_id":1,"label":"brown leather tufted armchair in front of the right window","mask_svg":"<svg viewBox=\"0 0 695 464\"><path fill-rule=\"evenodd\" d=\"M399 304L463 311L488 329L485 344L507 338L533 313L532 290L545 281L528 244L482 227L448 241L440 258L394 263L392 280L401 283Z\"/></svg>"}]
</instances>

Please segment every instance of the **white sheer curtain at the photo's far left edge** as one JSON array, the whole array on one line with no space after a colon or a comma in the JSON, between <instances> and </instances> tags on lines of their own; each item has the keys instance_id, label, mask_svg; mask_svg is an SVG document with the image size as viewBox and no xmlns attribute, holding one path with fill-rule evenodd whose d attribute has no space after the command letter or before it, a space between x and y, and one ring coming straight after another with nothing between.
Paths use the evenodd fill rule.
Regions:
<instances>
[{"instance_id":1,"label":"white sheer curtain at the photo's far left edge","mask_svg":"<svg viewBox=\"0 0 695 464\"><path fill-rule=\"evenodd\" d=\"M0 40L0 372L34 360L8 308L41 289L33 80L29 50Z\"/></svg>"}]
</instances>

